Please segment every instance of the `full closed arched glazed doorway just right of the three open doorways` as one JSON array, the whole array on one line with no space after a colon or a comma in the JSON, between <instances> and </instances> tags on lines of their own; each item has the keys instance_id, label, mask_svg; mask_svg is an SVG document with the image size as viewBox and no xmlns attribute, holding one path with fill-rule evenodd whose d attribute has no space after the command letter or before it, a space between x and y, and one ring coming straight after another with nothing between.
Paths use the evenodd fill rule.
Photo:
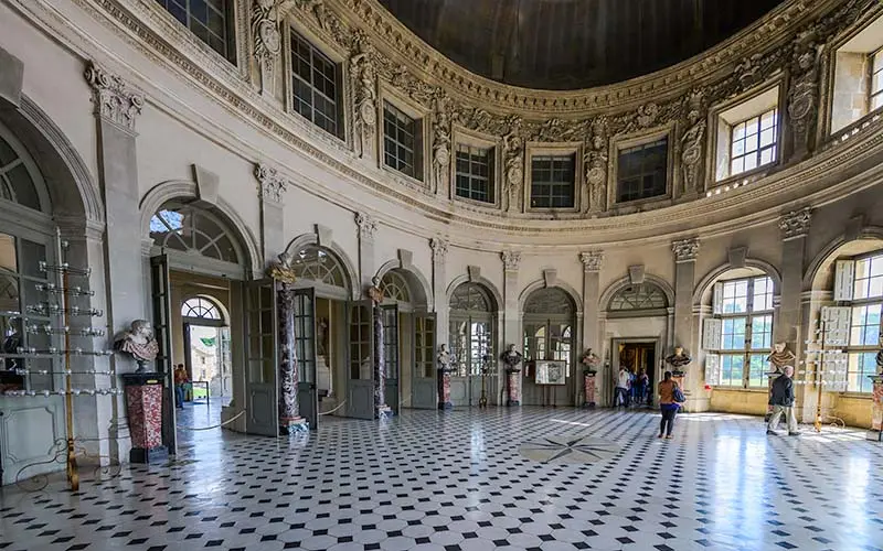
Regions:
<instances>
[{"instance_id":1,"label":"full closed arched glazed doorway just right of the three open doorways","mask_svg":"<svg viewBox=\"0 0 883 551\"><path fill-rule=\"evenodd\" d=\"M466 282L451 293L449 307L450 401L455 407L477 406L482 379L489 400L497 389L497 304L482 284Z\"/></svg>"}]
</instances>

